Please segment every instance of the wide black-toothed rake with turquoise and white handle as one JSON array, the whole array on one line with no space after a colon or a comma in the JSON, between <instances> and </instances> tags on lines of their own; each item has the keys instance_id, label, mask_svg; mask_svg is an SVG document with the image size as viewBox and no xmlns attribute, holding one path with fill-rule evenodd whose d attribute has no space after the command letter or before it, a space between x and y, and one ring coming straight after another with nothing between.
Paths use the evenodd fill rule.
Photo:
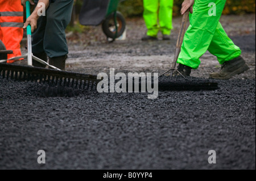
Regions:
<instances>
[{"instance_id":1,"label":"wide black-toothed rake with turquoise and white handle","mask_svg":"<svg viewBox=\"0 0 256 181\"><path fill-rule=\"evenodd\" d=\"M30 16L30 2L26 2L26 17ZM7 52L8 53L8 52ZM55 66L49 65L47 62L35 57L32 54L31 45L31 26L27 26L27 54L19 57L13 57L9 60L19 60L27 58L27 66L6 64L7 60L0 60L0 77L11 78L17 81L31 81L49 83L51 86L68 86L77 88L93 88L96 87L100 80L97 75L74 73L70 71L62 71ZM48 65L49 68L37 68L32 66L32 60L41 64Z\"/></svg>"}]
</instances>

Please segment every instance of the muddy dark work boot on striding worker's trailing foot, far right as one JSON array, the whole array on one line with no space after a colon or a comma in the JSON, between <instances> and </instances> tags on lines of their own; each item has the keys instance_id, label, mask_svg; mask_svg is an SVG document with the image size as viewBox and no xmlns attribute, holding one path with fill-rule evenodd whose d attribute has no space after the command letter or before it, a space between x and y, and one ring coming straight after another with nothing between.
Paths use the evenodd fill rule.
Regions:
<instances>
[{"instance_id":1,"label":"muddy dark work boot on striding worker's trailing foot, far right","mask_svg":"<svg viewBox=\"0 0 256 181\"><path fill-rule=\"evenodd\" d=\"M220 73L211 73L209 78L214 79L229 79L236 74L241 74L243 71L248 70L245 60L241 56L233 60L226 61L221 65Z\"/></svg>"}]
</instances>

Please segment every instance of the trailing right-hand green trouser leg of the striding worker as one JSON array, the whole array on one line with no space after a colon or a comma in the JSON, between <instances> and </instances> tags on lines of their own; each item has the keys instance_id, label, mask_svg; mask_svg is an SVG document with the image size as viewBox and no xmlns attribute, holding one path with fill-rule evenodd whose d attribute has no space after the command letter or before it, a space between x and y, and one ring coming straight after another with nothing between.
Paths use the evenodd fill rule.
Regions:
<instances>
[{"instance_id":1,"label":"trailing right-hand green trouser leg of the striding worker","mask_svg":"<svg viewBox=\"0 0 256 181\"><path fill-rule=\"evenodd\" d=\"M241 49L237 47L226 35L221 23L218 23L212 42L208 48L209 52L218 58L220 64L232 60L241 55Z\"/></svg>"}]
</instances>

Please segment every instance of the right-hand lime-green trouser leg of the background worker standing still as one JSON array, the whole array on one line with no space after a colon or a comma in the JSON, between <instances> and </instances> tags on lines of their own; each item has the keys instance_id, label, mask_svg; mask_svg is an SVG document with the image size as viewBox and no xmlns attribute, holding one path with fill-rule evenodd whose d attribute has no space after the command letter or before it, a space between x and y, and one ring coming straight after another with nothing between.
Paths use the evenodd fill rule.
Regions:
<instances>
[{"instance_id":1,"label":"right-hand lime-green trouser leg of the background worker standing still","mask_svg":"<svg viewBox=\"0 0 256 181\"><path fill-rule=\"evenodd\" d=\"M160 0L159 25L163 35L170 35L172 30L172 7L174 0Z\"/></svg>"}]
</instances>

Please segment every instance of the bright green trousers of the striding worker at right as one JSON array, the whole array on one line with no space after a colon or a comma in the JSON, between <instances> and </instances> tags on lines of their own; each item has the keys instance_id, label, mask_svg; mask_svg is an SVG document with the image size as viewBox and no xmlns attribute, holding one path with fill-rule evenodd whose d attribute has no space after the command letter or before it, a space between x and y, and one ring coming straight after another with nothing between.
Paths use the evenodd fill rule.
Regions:
<instances>
[{"instance_id":1,"label":"bright green trousers of the striding worker at right","mask_svg":"<svg viewBox=\"0 0 256 181\"><path fill-rule=\"evenodd\" d=\"M226 0L195 0L177 63L197 69L199 58L207 50L220 64L241 55L241 49L229 39L219 22L225 3Z\"/></svg>"}]
</instances>

